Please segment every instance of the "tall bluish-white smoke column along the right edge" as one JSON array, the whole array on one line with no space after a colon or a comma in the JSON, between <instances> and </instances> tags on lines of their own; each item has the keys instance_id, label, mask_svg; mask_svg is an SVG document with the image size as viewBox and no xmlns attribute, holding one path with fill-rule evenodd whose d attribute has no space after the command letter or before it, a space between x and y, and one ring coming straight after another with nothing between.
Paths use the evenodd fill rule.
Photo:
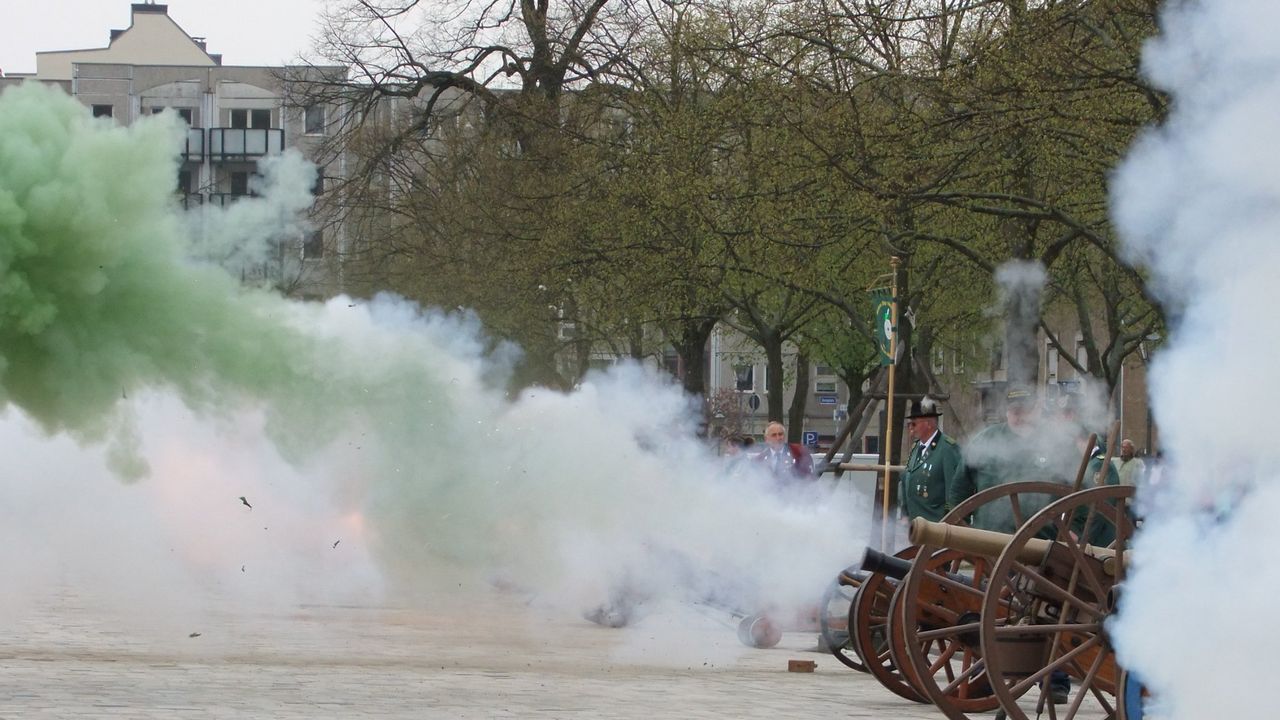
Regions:
<instances>
[{"instance_id":1,"label":"tall bluish-white smoke column along the right edge","mask_svg":"<svg viewBox=\"0 0 1280 720\"><path fill-rule=\"evenodd\" d=\"M1170 717L1274 714L1277 23L1270 0L1165 4L1144 68L1172 113L1114 183L1129 250L1178 314L1152 372L1172 510L1139 538L1117 628Z\"/></svg>"}]
</instances>

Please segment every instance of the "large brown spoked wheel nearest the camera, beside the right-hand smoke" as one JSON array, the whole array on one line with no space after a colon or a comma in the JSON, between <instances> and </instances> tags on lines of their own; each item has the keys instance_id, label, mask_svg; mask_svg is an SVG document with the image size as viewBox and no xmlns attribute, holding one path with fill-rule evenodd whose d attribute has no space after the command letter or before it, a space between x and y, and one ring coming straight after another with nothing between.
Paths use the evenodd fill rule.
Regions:
<instances>
[{"instance_id":1,"label":"large brown spoked wheel nearest the camera, beside the right-hand smoke","mask_svg":"<svg viewBox=\"0 0 1280 720\"><path fill-rule=\"evenodd\" d=\"M1069 495L1033 515L996 560L982 652L1012 720L1046 711L1051 720L1119 715L1120 670L1106 620L1134 533L1132 500L1128 486Z\"/></svg>"}]
</instances>

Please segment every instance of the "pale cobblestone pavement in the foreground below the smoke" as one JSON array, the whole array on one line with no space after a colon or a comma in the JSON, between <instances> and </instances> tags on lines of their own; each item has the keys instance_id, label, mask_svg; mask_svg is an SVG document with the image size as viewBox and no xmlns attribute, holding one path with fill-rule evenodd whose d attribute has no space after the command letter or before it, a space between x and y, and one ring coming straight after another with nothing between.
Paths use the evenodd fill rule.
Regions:
<instances>
[{"instance_id":1,"label":"pale cobblestone pavement in the foreground below the smoke","mask_svg":"<svg viewBox=\"0 0 1280 720\"><path fill-rule=\"evenodd\" d=\"M500 596L200 618L61 602L6 619L0 717L941 717L809 652L813 633L751 650L714 623L616 630Z\"/></svg>"}]
</instances>

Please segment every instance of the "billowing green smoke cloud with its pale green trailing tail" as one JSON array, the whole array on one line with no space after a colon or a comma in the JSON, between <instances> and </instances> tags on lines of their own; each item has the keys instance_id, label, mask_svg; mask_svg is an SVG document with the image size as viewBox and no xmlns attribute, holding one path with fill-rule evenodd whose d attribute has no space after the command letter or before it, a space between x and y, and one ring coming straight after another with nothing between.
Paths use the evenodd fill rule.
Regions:
<instances>
[{"instance_id":1,"label":"billowing green smoke cloud with its pale green trailing tail","mask_svg":"<svg viewBox=\"0 0 1280 720\"><path fill-rule=\"evenodd\" d=\"M454 486L472 462L458 448L492 432L500 400L476 328L390 300L379 324L193 260L173 196L182 132L168 114L118 127L35 83L0 95L0 401L49 433L109 441L124 478L147 471L127 402L143 388L206 418L262 413L291 462L362 438L383 532L466 552L492 498ZM440 509L430 538L413 529L426 507Z\"/></svg>"}]
</instances>

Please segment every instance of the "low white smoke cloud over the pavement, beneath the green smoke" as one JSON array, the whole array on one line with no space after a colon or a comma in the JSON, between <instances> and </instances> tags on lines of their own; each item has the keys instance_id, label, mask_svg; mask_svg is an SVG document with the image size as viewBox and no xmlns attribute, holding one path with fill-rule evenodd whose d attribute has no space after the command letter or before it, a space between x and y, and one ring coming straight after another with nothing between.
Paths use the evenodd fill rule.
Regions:
<instances>
[{"instance_id":1,"label":"low white smoke cloud over the pavement, beneath the green smoke","mask_svg":"<svg viewBox=\"0 0 1280 720\"><path fill-rule=\"evenodd\" d=\"M70 585L113 621L180 639L228 606L420 603L497 583L573 615L626 597L658 639L622 657L652 661L653 642L687 656L660 618L791 616L865 544L867 509L847 496L780 497L750 464L727 473L657 372L622 365L508 401L467 315L390 296L278 313L330 350L334 382L371 383L369 414L323 400L282 415L244 398L210 416L150 392L127 402L150 473L123 484L102 448L41 437L10 410L0 447L28 465L0 483L8 616ZM402 380L431 387L379 401L374 382ZM316 447L308 428L329 439Z\"/></svg>"}]
</instances>

